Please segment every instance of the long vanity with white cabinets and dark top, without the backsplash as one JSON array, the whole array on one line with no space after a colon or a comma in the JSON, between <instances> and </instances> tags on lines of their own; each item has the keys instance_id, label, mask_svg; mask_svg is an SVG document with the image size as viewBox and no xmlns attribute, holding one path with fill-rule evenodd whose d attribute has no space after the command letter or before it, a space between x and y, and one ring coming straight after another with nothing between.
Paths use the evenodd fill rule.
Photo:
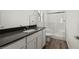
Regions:
<instances>
[{"instance_id":1,"label":"long vanity with white cabinets and dark top, without the backsplash","mask_svg":"<svg viewBox=\"0 0 79 59\"><path fill-rule=\"evenodd\" d=\"M45 27L29 27L28 30L19 30L0 35L1 49L41 49L46 43ZM31 31L29 31L31 30Z\"/></svg>"}]
</instances>

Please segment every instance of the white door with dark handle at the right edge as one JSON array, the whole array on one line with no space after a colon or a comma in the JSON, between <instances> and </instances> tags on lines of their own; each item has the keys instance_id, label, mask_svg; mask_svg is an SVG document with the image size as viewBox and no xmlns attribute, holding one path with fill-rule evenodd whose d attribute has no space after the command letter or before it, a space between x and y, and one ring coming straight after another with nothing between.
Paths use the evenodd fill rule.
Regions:
<instances>
[{"instance_id":1,"label":"white door with dark handle at the right edge","mask_svg":"<svg viewBox=\"0 0 79 59\"><path fill-rule=\"evenodd\" d=\"M79 11L67 11L66 22L66 40L69 48L79 48L79 40L76 36L79 36Z\"/></svg>"}]
</instances>

